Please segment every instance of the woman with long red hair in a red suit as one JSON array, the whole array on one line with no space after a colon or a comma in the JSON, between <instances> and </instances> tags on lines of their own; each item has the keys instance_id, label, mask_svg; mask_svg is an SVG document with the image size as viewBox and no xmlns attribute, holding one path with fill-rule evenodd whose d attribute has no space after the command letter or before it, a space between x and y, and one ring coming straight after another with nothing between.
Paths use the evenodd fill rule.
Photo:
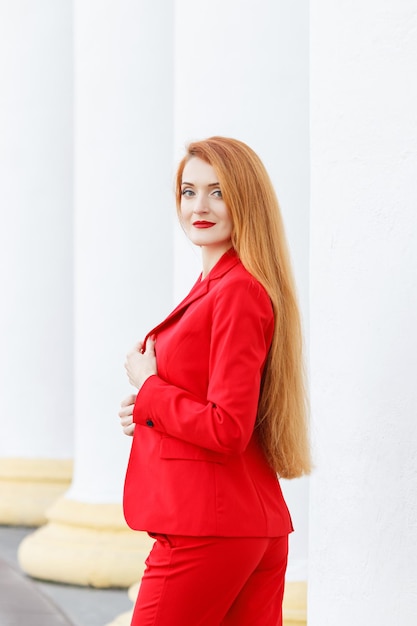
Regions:
<instances>
[{"instance_id":1,"label":"woman with long red hair in a red suit","mask_svg":"<svg viewBox=\"0 0 417 626\"><path fill-rule=\"evenodd\" d=\"M299 313L274 190L244 143L188 147L177 209L203 270L128 354L138 390L124 511L155 544L133 626L282 624L292 524L277 474L310 471Z\"/></svg>"}]
</instances>

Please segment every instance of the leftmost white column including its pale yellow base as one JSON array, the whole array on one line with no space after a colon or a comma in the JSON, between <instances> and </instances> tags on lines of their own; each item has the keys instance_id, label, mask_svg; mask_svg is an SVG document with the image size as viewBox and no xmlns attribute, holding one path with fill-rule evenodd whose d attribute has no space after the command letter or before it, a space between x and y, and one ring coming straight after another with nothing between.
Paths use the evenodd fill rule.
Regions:
<instances>
[{"instance_id":1,"label":"leftmost white column including its pale yellow base","mask_svg":"<svg viewBox=\"0 0 417 626\"><path fill-rule=\"evenodd\" d=\"M0 523L34 525L71 479L71 2L0 4L0 94Z\"/></svg>"}]
</instances>

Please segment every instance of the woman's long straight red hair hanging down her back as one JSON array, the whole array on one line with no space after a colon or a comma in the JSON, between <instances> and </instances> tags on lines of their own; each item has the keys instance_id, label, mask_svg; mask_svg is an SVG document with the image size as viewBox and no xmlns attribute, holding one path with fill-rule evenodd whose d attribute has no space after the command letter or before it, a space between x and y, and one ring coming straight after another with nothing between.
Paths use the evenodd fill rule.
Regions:
<instances>
[{"instance_id":1,"label":"woman's long straight red hair hanging down her back","mask_svg":"<svg viewBox=\"0 0 417 626\"><path fill-rule=\"evenodd\" d=\"M211 137L191 143L178 166L178 211L182 173L192 157L203 159L216 171L233 222L232 245L244 267L265 287L274 310L275 331L257 416L264 452L283 478L308 474L311 458L300 315L274 188L251 148L236 139Z\"/></svg>"}]
</instances>

